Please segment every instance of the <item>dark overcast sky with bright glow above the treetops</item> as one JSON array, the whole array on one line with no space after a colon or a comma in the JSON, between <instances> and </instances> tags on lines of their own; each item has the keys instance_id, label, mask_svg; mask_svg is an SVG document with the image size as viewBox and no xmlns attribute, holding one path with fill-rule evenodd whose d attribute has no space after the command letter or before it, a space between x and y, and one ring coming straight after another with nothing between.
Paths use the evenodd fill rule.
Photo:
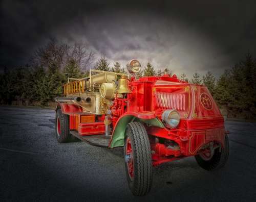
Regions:
<instances>
[{"instance_id":1,"label":"dark overcast sky with bright glow above the treetops","mask_svg":"<svg viewBox=\"0 0 256 202\"><path fill-rule=\"evenodd\" d=\"M85 41L111 64L135 58L188 77L256 57L255 1L102 2L2 1L1 68L26 64L49 37Z\"/></svg>"}]
</instances>

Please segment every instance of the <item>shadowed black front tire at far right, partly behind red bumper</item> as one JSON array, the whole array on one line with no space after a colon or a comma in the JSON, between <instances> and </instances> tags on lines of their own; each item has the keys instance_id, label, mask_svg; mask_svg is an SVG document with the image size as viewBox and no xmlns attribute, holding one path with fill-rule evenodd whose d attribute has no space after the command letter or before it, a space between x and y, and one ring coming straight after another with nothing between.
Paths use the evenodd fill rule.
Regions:
<instances>
[{"instance_id":1,"label":"shadowed black front tire at far right, partly behind red bumper","mask_svg":"<svg viewBox=\"0 0 256 202\"><path fill-rule=\"evenodd\" d=\"M215 171L227 163L229 156L229 142L228 142L228 136L225 134L225 148L220 150L217 148L215 149L214 156L208 161L203 160L199 155L195 156L196 161L200 167L202 167L205 170L208 171Z\"/></svg>"}]
</instances>

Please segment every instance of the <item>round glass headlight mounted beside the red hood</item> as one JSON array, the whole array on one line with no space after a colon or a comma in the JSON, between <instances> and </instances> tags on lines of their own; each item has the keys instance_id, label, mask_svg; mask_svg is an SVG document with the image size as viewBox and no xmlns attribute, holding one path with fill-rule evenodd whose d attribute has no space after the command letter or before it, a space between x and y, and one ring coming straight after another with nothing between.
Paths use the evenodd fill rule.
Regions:
<instances>
[{"instance_id":1,"label":"round glass headlight mounted beside the red hood","mask_svg":"<svg viewBox=\"0 0 256 202\"><path fill-rule=\"evenodd\" d=\"M176 110L165 110L162 121L167 128L176 128L180 123L180 114Z\"/></svg>"}]
</instances>

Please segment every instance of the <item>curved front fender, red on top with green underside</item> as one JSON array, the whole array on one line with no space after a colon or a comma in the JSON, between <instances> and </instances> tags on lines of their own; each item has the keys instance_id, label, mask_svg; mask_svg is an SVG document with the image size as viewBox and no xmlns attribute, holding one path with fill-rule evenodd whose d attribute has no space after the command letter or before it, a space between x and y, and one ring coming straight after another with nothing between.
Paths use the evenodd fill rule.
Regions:
<instances>
[{"instance_id":1,"label":"curved front fender, red on top with green underside","mask_svg":"<svg viewBox=\"0 0 256 202\"><path fill-rule=\"evenodd\" d=\"M163 123L152 112L126 112L120 116L115 125L109 147L114 148L124 145L126 125L134 121L145 123L148 126L154 125L156 127L164 128Z\"/></svg>"}]
</instances>

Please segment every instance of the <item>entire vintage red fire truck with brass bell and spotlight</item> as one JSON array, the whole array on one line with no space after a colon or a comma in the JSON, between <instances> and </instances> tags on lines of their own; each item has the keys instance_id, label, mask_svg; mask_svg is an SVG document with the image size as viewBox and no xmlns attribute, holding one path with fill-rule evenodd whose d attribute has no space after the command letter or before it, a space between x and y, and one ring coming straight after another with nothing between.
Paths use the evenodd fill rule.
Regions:
<instances>
[{"instance_id":1,"label":"entire vintage red fire truck with brass bell and spotlight","mask_svg":"<svg viewBox=\"0 0 256 202\"><path fill-rule=\"evenodd\" d=\"M203 85L176 75L135 79L130 74L90 70L87 78L69 78L63 97L56 97L56 138L80 139L95 146L124 147L127 182L134 195L152 185L152 166L195 156L202 168L225 165L228 136L218 106Z\"/></svg>"}]
</instances>

